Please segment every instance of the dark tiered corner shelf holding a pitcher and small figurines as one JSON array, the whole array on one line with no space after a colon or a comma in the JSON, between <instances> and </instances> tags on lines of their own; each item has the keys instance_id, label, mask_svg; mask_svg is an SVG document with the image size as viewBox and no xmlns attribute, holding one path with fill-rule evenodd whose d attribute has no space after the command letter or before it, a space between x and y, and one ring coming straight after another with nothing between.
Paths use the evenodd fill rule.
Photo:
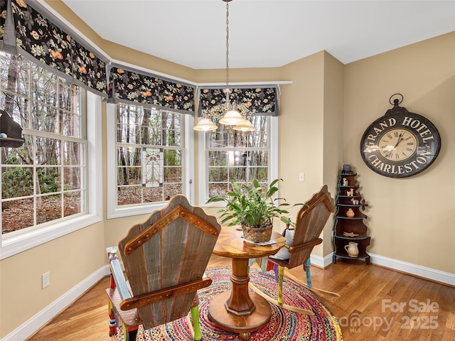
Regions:
<instances>
[{"instance_id":1,"label":"dark tiered corner shelf holding a pitcher and small figurines","mask_svg":"<svg viewBox=\"0 0 455 341\"><path fill-rule=\"evenodd\" d=\"M333 263L337 257L342 259L365 259L370 264L367 247L370 237L363 220L367 216L362 212L368 204L363 200L355 180L357 173L350 165L343 165L338 177L338 195L336 197L336 222L333 229ZM344 179L347 180L344 181Z\"/></svg>"}]
</instances>

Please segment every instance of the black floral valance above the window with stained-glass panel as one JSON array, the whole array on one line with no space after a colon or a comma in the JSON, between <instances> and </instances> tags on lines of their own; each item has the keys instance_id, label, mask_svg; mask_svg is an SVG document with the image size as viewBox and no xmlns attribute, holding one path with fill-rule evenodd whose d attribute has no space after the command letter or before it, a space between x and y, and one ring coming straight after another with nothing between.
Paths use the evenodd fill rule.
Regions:
<instances>
[{"instance_id":1,"label":"black floral valance above the window with stained-glass panel","mask_svg":"<svg viewBox=\"0 0 455 341\"><path fill-rule=\"evenodd\" d=\"M109 77L110 102L132 102L147 107L194 112L194 88L153 75L112 67Z\"/></svg>"}]
</instances>

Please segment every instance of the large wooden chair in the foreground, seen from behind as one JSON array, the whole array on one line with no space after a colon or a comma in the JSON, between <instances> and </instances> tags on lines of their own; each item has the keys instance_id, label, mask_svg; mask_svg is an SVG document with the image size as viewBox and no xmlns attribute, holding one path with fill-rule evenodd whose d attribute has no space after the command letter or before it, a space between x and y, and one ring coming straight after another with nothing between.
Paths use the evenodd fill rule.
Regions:
<instances>
[{"instance_id":1,"label":"large wooden chair in the foreground, seen from behind","mask_svg":"<svg viewBox=\"0 0 455 341\"><path fill-rule=\"evenodd\" d=\"M134 224L118 247L107 248L109 335L122 328L123 340L136 340L139 325L149 329L178 318L190 320L191 310L193 338L200 340L197 291L212 283L204 271L220 229L215 217L175 195L163 210Z\"/></svg>"}]
</instances>

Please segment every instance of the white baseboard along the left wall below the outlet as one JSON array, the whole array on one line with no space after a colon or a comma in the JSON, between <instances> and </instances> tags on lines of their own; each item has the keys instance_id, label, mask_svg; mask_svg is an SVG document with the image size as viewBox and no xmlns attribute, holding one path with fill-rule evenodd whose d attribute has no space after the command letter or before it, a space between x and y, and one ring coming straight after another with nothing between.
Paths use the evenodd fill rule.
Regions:
<instances>
[{"instance_id":1,"label":"white baseboard along the left wall below the outlet","mask_svg":"<svg viewBox=\"0 0 455 341\"><path fill-rule=\"evenodd\" d=\"M68 305L76 301L77 298L80 298L80 296L82 296L87 290L92 288L92 286L98 283L98 281L100 281L103 277L108 276L109 274L110 272L108 265L98 269L95 271L95 273L85 278L84 281L77 284L77 286L66 292L63 296L60 296L60 298L53 301L53 303L50 303L50 305L45 307L39 313L10 332L8 335L2 338L1 341L26 340L27 337L33 335L37 330L52 320L65 308L67 308Z\"/></svg>"}]
</instances>

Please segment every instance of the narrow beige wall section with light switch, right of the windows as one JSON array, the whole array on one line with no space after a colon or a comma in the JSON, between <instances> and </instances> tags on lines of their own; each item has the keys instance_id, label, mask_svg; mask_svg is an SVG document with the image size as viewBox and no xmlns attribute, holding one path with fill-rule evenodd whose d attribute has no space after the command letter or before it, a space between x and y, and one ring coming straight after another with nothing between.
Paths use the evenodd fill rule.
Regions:
<instances>
[{"instance_id":1,"label":"narrow beige wall section with light switch, right of the windows","mask_svg":"<svg viewBox=\"0 0 455 341\"><path fill-rule=\"evenodd\" d=\"M292 84L282 87L278 173L284 180L280 196L292 204L305 202L323 184L324 57L324 52L316 53L282 70ZM291 210L292 217L297 210ZM322 256L323 245L314 253Z\"/></svg>"}]
</instances>

